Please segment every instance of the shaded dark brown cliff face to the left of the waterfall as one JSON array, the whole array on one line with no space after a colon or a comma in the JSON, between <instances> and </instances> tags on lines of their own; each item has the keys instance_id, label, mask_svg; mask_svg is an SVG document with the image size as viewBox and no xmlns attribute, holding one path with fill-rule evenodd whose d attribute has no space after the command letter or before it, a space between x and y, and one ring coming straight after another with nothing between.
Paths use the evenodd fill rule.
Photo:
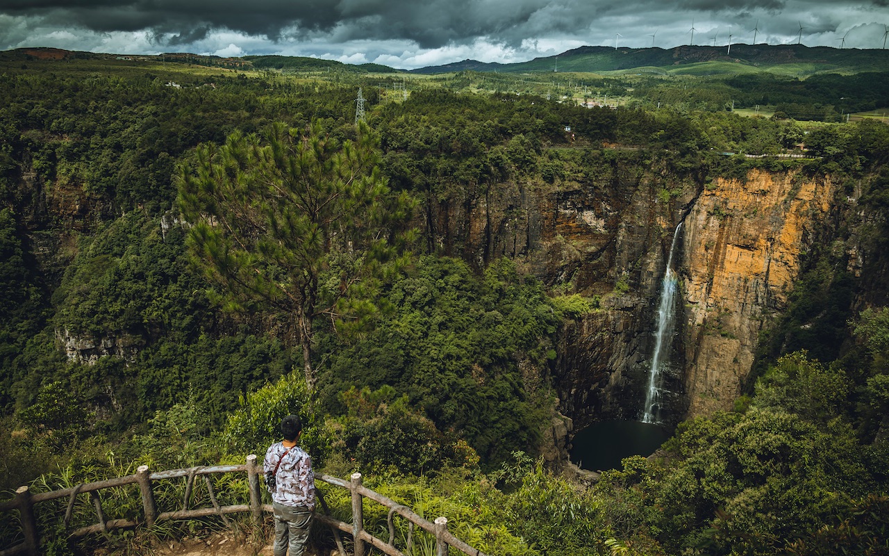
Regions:
<instances>
[{"instance_id":1,"label":"shaded dark brown cliff face to the left of the waterfall","mask_svg":"<svg viewBox=\"0 0 889 556\"><path fill-rule=\"evenodd\" d=\"M446 254L479 267L509 256L554 289L600 299L601 309L565 327L552 369L559 411L578 429L637 416L670 239L700 190L637 151L594 160L586 179L470 188L459 202L428 205L424 219Z\"/></svg>"}]
</instances>

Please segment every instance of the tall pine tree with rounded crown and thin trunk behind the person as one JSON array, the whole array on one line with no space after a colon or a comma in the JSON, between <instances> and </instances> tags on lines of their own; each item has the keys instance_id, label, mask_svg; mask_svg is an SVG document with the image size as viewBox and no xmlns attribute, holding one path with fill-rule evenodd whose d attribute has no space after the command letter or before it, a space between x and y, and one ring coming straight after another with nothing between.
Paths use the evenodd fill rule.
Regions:
<instances>
[{"instance_id":1,"label":"tall pine tree with rounded crown and thin trunk behind the person","mask_svg":"<svg viewBox=\"0 0 889 556\"><path fill-rule=\"evenodd\" d=\"M192 261L220 287L228 310L275 310L300 342L308 391L313 320L363 325L374 292L397 266L398 233L413 206L378 167L378 140L364 123L338 141L319 122L283 124L204 143L177 174L179 206L191 224Z\"/></svg>"}]
</instances>

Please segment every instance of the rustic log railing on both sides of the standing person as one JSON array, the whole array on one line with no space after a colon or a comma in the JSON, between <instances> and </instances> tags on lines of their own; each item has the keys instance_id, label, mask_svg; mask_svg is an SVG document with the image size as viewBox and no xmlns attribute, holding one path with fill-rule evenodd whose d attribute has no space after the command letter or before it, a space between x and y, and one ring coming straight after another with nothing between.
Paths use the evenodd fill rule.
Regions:
<instances>
[{"instance_id":1,"label":"rustic log railing on both sides of the standing person","mask_svg":"<svg viewBox=\"0 0 889 556\"><path fill-rule=\"evenodd\" d=\"M212 488L210 476L214 473L247 473L247 486L250 492L249 504L234 504L222 506L216 498L216 494ZM140 465L133 475L118 477L116 479L100 480L92 483L79 484L72 488L63 488L60 490L52 490L50 492L41 492L32 494L28 487L20 487L15 491L15 497L12 500L0 503L0 512L19 512L19 521L21 527L21 535L24 540L19 544L11 547L0 549L0 556L12 556L12 554L28 554L28 556L38 556L40 554L40 530L37 525L35 506L51 500L60 498L68 498L68 510L65 512L64 526L67 529L72 518L77 496L88 495L92 500L92 505L96 511L98 522L81 528L76 528L68 532L68 536L86 536L92 533L107 532L116 528L136 528L140 526L151 527L155 523L164 520L190 520L203 518L207 516L219 516L228 524L228 514L250 512L252 521L255 525L262 522L262 514L271 513L271 504L262 504L260 490L260 465L256 461L256 455L248 455L247 462L244 465L212 465L202 467L191 467L188 469L176 469L172 471L156 471L149 472L147 465ZM194 487L196 477L201 476L207 487L207 494L210 499L210 507L201 507L189 509L191 493ZM182 508L180 510L171 510L166 512L158 512L154 484L160 479L187 478L185 496L182 500ZM339 488L345 488L351 493L352 500L352 522L334 518L324 496L318 491L319 502L321 503L322 512L317 512L315 519L320 523L330 527L333 532L334 539L340 554L346 554L346 549L340 537L340 531L348 533L353 539L353 550L355 556L364 556L365 544L371 545L380 552L384 552L389 556L404 556L404 552L398 550L395 546L395 525L393 517L395 514L400 515L408 522L408 536L406 540L405 550L412 552L413 548L413 532L415 527L427 531L436 539L436 556L447 556L448 548L453 548L469 554L470 556L486 556L469 544L464 543L456 536L453 536L447 530L447 519L439 517L435 522L425 520L423 517L414 513L410 508L397 504L394 500L386 496L382 496L369 488L365 488L362 484L361 473L354 473L349 480L339 479L330 475L318 475L316 481L323 481L329 485ZM135 520L112 519L109 520L102 508L100 490L103 488L124 487L126 485L138 485L142 503L142 518ZM382 504L388 508L388 540L373 536L364 529L364 498L368 498L374 502Z\"/></svg>"}]
</instances>

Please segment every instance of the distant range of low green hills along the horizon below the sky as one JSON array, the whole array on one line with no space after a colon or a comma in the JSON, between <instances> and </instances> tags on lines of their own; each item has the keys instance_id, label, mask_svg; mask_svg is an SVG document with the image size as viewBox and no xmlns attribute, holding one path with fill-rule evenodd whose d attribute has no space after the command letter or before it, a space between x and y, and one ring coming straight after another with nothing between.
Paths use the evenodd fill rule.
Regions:
<instances>
[{"instance_id":1,"label":"distant range of low green hills along the horizon below the sky","mask_svg":"<svg viewBox=\"0 0 889 556\"><path fill-rule=\"evenodd\" d=\"M291 71L339 70L358 73L438 74L460 71L501 73L605 73L656 75L726 75L770 72L806 77L817 73L861 73L889 71L889 50L838 49L802 44L732 44L723 46L677 46L674 48L612 48L581 46L556 56L501 64L463 60L441 66L404 70L380 64L344 64L301 56L243 56L220 58L188 52L168 52L157 56L71 52L55 48L20 48L0 52L0 59L63 60L71 58L115 57L126 60L181 61L229 68L268 68Z\"/></svg>"}]
</instances>

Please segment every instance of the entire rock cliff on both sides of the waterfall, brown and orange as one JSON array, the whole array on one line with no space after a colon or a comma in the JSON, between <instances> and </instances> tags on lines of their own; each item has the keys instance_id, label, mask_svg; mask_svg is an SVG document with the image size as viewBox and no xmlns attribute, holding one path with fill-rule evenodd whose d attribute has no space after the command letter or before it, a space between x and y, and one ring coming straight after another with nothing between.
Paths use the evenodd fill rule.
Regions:
<instances>
[{"instance_id":1,"label":"entire rock cliff on both sides of the waterfall, brown and orange","mask_svg":"<svg viewBox=\"0 0 889 556\"><path fill-rule=\"evenodd\" d=\"M580 428L638 417L664 265L684 222L669 413L678 421L731 407L759 331L785 306L829 214L832 184L751 171L704 187L634 155L597 175L470 192L430 208L430 237L479 266L510 256L555 291L598 296L600 309L563 331L553 369L559 410Z\"/></svg>"}]
</instances>

